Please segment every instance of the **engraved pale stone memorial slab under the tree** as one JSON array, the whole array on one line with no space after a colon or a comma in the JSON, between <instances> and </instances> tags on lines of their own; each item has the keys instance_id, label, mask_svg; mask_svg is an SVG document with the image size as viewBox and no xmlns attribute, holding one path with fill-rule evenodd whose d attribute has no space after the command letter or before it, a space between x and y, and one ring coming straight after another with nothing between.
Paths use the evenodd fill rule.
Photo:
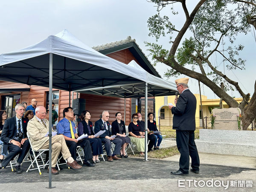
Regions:
<instances>
[{"instance_id":1,"label":"engraved pale stone memorial slab under the tree","mask_svg":"<svg viewBox=\"0 0 256 192\"><path fill-rule=\"evenodd\" d=\"M211 118L212 129L243 130L239 108L215 108L212 110Z\"/></svg>"}]
</instances>

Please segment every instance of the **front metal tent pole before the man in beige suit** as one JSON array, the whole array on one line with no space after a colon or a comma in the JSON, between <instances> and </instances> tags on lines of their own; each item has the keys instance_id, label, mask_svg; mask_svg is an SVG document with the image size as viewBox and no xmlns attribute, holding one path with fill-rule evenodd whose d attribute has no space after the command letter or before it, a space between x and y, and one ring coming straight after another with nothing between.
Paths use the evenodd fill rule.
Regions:
<instances>
[{"instance_id":1,"label":"front metal tent pole before the man in beige suit","mask_svg":"<svg viewBox=\"0 0 256 192\"><path fill-rule=\"evenodd\" d=\"M49 55L49 187L52 189L52 53Z\"/></svg>"}]
</instances>

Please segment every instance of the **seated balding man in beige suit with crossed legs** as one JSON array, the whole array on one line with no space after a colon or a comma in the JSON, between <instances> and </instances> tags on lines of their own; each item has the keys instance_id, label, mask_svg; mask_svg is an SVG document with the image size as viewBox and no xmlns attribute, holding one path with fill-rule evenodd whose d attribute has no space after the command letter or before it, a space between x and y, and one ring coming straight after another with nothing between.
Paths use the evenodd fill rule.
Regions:
<instances>
[{"instance_id":1,"label":"seated balding man in beige suit with crossed legs","mask_svg":"<svg viewBox=\"0 0 256 192\"><path fill-rule=\"evenodd\" d=\"M49 121L45 119L45 116L46 109L43 106L38 106L35 109L35 116L29 120L27 125L31 145L35 151L49 148L49 137L45 137L49 131ZM55 169L55 166L60 152L63 158L67 159L67 165L70 166L71 169L82 168L82 166L71 157L63 135L55 135L52 137L52 174L58 174L58 170Z\"/></svg>"}]
</instances>

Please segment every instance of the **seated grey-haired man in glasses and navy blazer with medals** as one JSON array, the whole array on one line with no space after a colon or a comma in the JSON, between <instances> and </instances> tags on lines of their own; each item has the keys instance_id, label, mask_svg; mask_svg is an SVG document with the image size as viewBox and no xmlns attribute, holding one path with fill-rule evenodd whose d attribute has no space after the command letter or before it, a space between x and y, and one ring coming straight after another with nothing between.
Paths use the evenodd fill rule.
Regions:
<instances>
[{"instance_id":1,"label":"seated grey-haired man in glasses and navy blazer with medals","mask_svg":"<svg viewBox=\"0 0 256 192\"><path fill-rule=\"evenodd\" d=\"M117 154L120 154L120 149L122 146L122 140L119 138L111 138L111 131L110 131L110 123L108 122L109 113L108 111L102 112L102 118L95 122L94 124L94 132L95 134L99 131L105 131L99 138L102 140L102 143L105 144L105 150L107 152L107 161L113 162L113 160L121 160L121 158L117 157ZM114 143L115 150L113 154L111 152L111 142Z\"/></svg>"}]
</instances>

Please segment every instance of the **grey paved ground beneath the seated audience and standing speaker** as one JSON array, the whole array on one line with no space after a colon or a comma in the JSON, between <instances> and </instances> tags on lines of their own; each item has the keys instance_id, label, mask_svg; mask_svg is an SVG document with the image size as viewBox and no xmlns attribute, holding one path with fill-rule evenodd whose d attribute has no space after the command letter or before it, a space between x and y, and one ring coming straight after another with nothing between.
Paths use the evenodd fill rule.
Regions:
<instances>
[{"instance_id":1,"label":"grey paved ground beneath the seated audience and standing speaker","mask_svg":"<svg viewBox=\"0 0 256 192\"><path fill-rule=\"evenodd\" d=\"M168 141L169 142L169 141ZM169 142L173 143L172 141ZM59 175L52 175L53 189L46 189L48 186L47 170L25 172L28 164L23 164L23 174L15 174L10 168L0 170L0 189L3 191L256 191L256 158L239 157L229 155L202 154L200 153L200 173L189 172L187 176L170 175L171 171L178 169L179 156L168 157L164 160L149 159L144 162L143 157L128 158L120 161L97 163L96 167L83 167L81 170L67 169ZM81 162L79 162L81 163ZM180 183L179 180L183 183ZM189 187L189 181L191 186ZM203 182L212 180L213 187L197 187L194 181ZM228 188L218 185L218 180L228 183ZM237 187L230 183L236 181ZM246 187L245 182L252 180L252 187ZM244 187L238 187L244 182ZM181 182L181 181L180 181ZM210 184L210 181L208 182ZM249 186L249 185L247 185Z\"/></svg>"}]
</instances>

